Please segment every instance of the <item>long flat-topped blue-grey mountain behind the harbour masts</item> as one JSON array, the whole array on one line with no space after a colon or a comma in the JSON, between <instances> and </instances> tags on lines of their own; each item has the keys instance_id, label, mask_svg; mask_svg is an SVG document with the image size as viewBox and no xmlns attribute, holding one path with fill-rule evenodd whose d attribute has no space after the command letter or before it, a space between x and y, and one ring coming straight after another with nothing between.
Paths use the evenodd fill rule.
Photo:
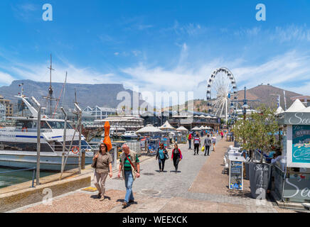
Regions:
<instances>
[{"instance_id":1,"label":"long flat-topped blue-grey mountain behind the harbour masts","mask_svg":"<svg viewBox=\"0 0 310 227\"><path fill-rule=\"evenodd\" d=\"M23 89L26 96L34 96L38 101L46 106L46 99L43 96L48 96L49 82L34 82L29 79L15 80L9 86L0 87L0 94L5 99L11 99L16 102L15 95L21 92L21 87L18 84L23 83ZM63 83L52 83L53 97L59 98L60 92L63 89ZM75 89L77 93L77 102L80 107L84 109L86 106L104 106L109 108L116 108L121 101L117 101L117 94L119 92L129 92L133 97L133 92L130 89L124 89L123 84L66 84L64 107L73 108L75 101ZM140 104L143 101L140 101ZM55 104L55 102L54 102ZM60 97L60 105L63 105L63 96Z\"/></svg>"}]
</instances>

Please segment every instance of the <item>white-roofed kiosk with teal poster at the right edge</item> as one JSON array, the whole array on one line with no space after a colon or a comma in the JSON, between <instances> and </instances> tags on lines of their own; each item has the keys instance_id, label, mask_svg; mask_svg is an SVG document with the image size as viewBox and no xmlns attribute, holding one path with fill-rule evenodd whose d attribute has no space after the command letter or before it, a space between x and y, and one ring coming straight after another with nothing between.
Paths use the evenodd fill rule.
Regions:
<instances>
[{"instance_id":1,"label":"white-roofed kiosk with teal poster at the right edge","mask_svg":"<svg viewBox=\"0 0 310 227\"><path fill-rule=\"evenodd\" d=\"M274 192L282 201L310 201L310 106L299 99L279 116L282 155L274 163Z\"/></svg>"}]
</instances>

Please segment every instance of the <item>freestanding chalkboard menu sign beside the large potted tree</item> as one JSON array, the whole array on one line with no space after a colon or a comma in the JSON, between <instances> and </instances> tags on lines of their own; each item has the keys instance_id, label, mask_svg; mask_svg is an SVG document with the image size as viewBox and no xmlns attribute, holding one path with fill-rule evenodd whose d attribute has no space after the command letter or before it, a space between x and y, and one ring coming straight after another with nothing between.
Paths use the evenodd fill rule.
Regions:
<instances>
[{"instance_id":1,"label":"freestanding chalkboard menu sign beside the large potted tree","mask_svg":"<svg viewBox=\"0 0 310 227\"><path fill-rule=\"evenodd\" d=\"M229 189L243 189L243 162L230 160Z\"/></svg>"}]
</instances>

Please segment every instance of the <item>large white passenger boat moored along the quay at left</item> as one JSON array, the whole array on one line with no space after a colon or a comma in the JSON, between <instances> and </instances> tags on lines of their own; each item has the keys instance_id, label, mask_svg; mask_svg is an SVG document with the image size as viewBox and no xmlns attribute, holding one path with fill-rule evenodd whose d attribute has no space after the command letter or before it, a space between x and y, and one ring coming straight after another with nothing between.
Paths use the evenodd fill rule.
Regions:
<instances>
[{"instance_id":1,"label":"large white passenger boat moored along the quay at left","mask_svg":"<svg viewBox=\"0 0 310 227\"><path fill-rule=\"evenodd\" d=\"M26 104L31 116L10 117L10 126L0 128L0 166L31 168L37 162L37 123L38 112L27 101L26 97L16 96ZM63 133L65 120L57 118L41 118L41 170L61 170L63 158ZM70 121L67 121L65 136L65 157L68 160L65 170L78 167L79 133L75 132ZM70 148L70 143L72 146ZM81 136L81 152L85 151L85 165L92 163L93 151L90 145Z\"/></svg>"}]
</instances>

